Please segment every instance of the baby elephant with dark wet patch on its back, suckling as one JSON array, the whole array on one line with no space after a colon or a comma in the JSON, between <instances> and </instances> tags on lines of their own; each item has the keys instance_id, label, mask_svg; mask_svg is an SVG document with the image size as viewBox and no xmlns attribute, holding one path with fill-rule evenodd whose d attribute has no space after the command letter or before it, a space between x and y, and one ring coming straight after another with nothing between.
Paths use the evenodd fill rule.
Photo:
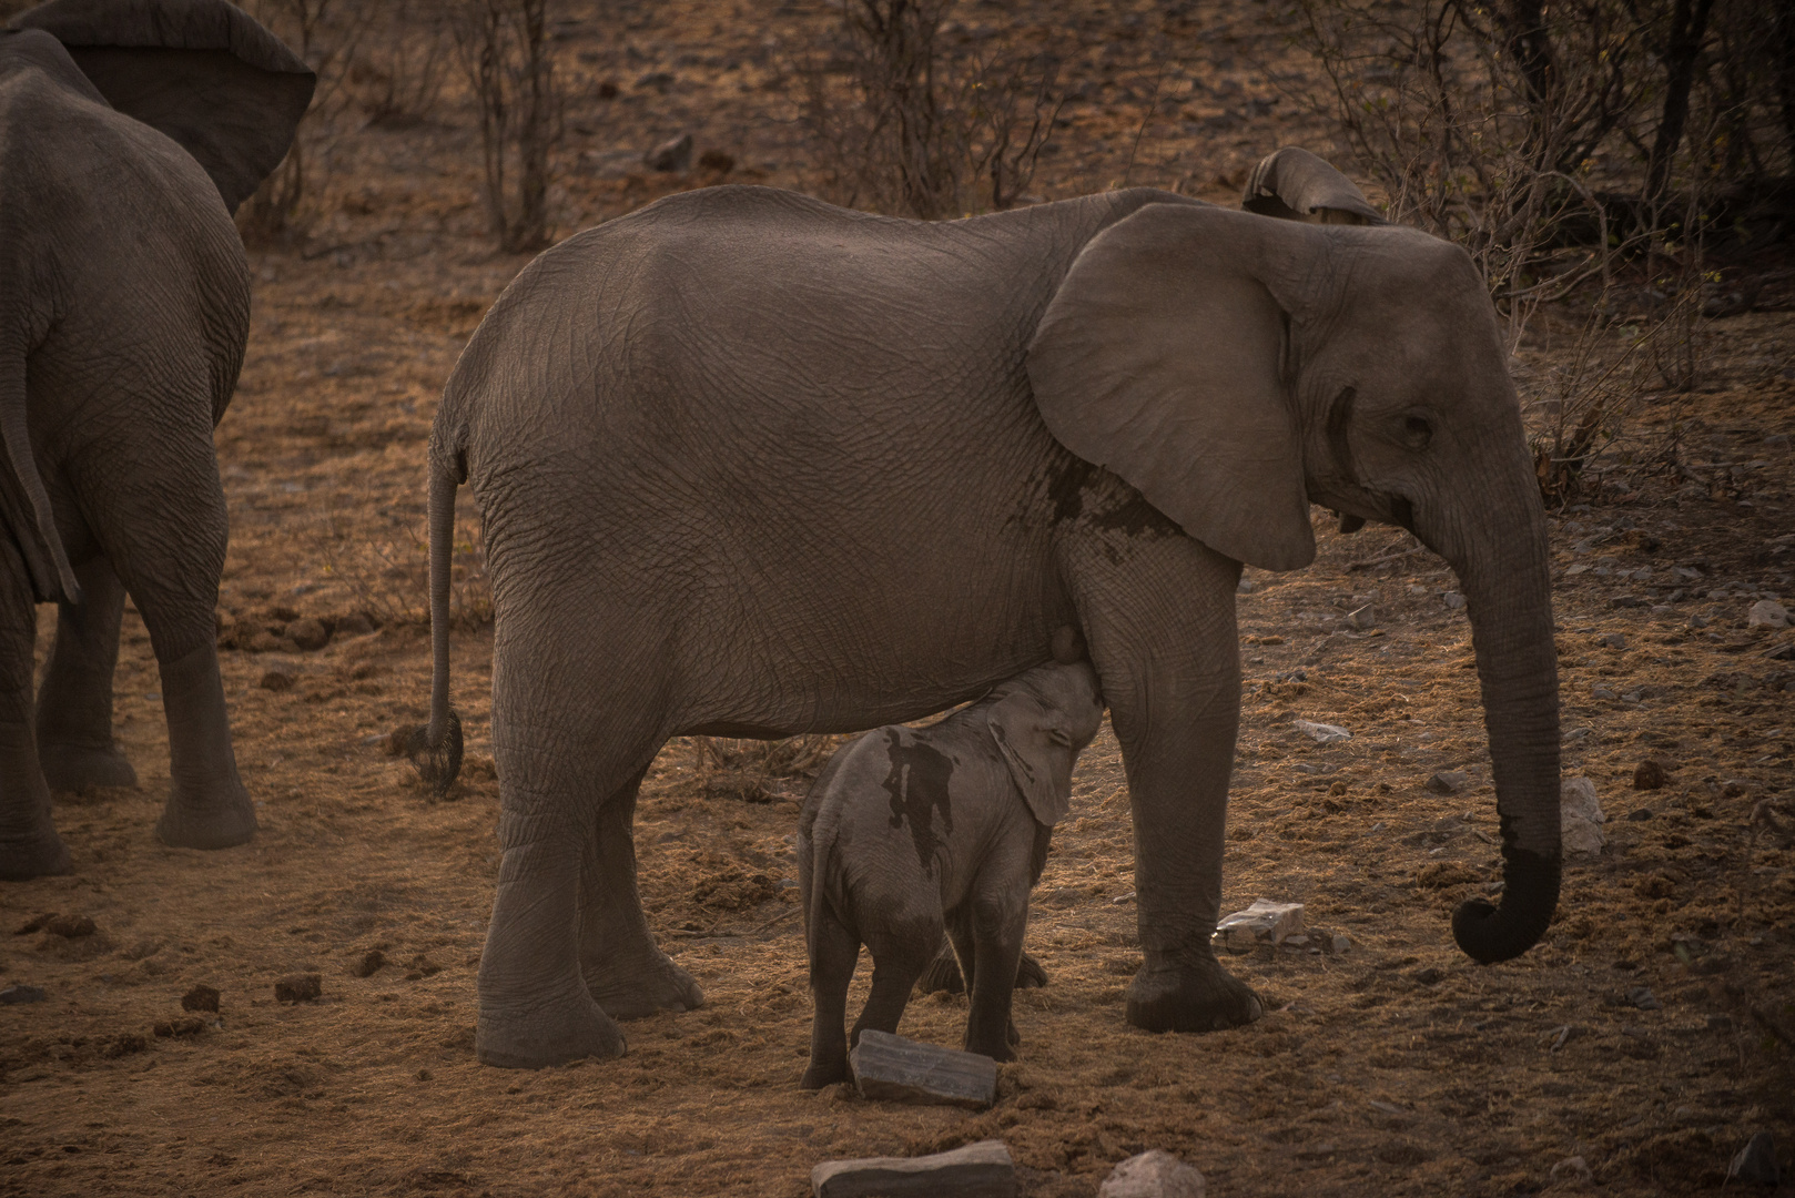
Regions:
<instances>
[{"instance_id":1,"label":"baby elephant with dark wet patch on its back, suckling","mask_svg":"<svg viewBox=\"0 0 1795 1198\"><path fill-rule=\"evenodd\" d=\"M898 1031L942 929L971 993L966 1047L1012 1060L1011 991L1054 824L1072 806L1072 763L1104 700L1090 663L1048 663L914 731L880 727L842 747L804 801L797 876L817 1017L804 1088L847 1081L847 982L872 950L872 993L854 1024Z\"/></svg>"}]
</instances>

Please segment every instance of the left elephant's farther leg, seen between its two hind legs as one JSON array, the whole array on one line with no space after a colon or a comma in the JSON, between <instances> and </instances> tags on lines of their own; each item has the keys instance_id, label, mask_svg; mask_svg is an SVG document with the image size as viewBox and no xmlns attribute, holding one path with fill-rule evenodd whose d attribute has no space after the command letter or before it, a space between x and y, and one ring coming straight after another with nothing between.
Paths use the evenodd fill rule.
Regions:
<instances>
[{"instance_id":1,"label":"left elephant's farther leg, seen between its two hind legs","mask_svg":"<svg viewBox=\"0 0 1795 1198\"><path fill-rule=\"evenodd\" d=\"M38 690L38 760L54 790L135 787L136 771L113 740L113 666L124 584L104 557L75 568L81 603L63 603L56 648Z\"/></svg>"}]
</instances>

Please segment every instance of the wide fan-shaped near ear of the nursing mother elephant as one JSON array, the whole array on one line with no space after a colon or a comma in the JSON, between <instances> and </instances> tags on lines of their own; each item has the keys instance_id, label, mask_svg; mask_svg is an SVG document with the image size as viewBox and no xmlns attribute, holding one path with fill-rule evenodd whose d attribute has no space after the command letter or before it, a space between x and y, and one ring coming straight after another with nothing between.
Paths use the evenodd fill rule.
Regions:
<instances>
[{"instance_id":1,"label":"wide fan-shaped near ear of the nursing mother elephant","mask_svg":"<svg viewBox=\"0 0 1795 1198\"><path fill-rule=\"evenodd\" d=\"M1287 314L1262 282L1296 226L1154 203L1084 246L1029 347L1059 442L1219 553L1262 569L1316 557L1285 372Z\"/></svg>"}]
</instances>

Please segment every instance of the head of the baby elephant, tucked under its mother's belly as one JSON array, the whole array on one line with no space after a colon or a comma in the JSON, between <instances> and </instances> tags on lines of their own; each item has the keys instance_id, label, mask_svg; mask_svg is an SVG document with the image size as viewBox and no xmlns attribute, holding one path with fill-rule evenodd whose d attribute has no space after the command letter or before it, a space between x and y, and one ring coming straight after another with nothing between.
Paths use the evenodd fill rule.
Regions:
<instances>
[{"instance_id":1,"label":"head of the baby elephant, tucked under its mother's belly","mask_svg":"<svg viewBox=\"0 0 1795 1198\"><path fill-rule=\"evenodd\" d=\"M1104 722L1091 663L1048 663L1000 684L985 727L1034 817L1052 828L1072 810L1072 765Z\"/></svg>"}]
</instances>

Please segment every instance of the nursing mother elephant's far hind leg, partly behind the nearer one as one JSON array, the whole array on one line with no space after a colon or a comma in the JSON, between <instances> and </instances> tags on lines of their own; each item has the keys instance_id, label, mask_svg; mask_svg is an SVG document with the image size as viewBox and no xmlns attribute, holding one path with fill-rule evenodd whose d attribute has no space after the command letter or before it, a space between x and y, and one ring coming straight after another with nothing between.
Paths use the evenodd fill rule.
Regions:
<instances>
[{"instance_id":1,"label":"nursing mother elephant's far hind leg, partly behind the nearer one","mask_svg":"<svg viewBox=\"0 0 1795 1198\"><path fill-rule=\"evenodd\" d=\"M612 1018L704 1006L693 975L655 947L635 889L635 794L646 772L643 767L600 806L580 869L580 972Z\"/></svg>"}]
</instances>

